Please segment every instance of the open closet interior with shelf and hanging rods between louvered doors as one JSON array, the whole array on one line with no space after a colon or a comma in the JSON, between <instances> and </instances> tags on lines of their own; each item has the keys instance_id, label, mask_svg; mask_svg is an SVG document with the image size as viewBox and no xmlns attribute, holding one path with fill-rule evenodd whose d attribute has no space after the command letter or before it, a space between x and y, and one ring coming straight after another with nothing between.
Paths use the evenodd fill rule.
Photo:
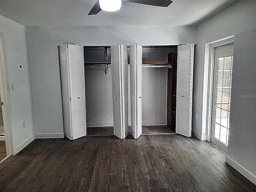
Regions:
<instances>
[{"instance_id":1,"label":"open closet interior with shelf and hanging rods between louvered doors","mask_svg":"<svg viewBox=\"0 0 256 192\"><path fill-rule=\"evenodd\" d=\"M173 134L178 46L142 46L142 134ZM87 136L114 135L110 46L84 46ZM128 46L128 82L130 82ZM130 101L130 84L128 83ZM128 102L130 132L130 102Z\"/></svg>"}]
</instances>

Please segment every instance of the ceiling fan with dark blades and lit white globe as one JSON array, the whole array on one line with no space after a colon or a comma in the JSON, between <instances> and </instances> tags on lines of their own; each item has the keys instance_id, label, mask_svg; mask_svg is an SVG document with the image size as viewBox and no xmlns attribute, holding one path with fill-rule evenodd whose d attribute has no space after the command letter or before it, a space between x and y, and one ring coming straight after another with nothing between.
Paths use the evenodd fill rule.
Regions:
<instances>
[{"instance_id":1,"label":"ceiling fan with dark blades and lit white globe","mask_svg":"<svg viewBox=\"0 0 256 192\"><path fill-rule=\"evenodd\" d=\"M88 15L96 15L101 10L118 11L121 8L122 1L159 7L168 7L172 3L172 0L98 0Z\"/></svg>"}]
</instances>

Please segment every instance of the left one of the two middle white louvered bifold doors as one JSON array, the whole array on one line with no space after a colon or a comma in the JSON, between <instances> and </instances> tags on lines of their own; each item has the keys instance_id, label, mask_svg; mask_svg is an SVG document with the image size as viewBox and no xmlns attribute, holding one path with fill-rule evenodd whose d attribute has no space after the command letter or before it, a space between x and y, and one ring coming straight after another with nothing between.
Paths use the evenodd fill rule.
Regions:
<instances>
[{"instance_id":1,"label":"left one of the two middle white louvered bifold doors","mask_svg":"<svg viewBox=\"0 0 256 192\"><path fill-rule=\"evenodd\" d=\"M127 46L111 46L114 135L128 135L128 56Z\"/></svg>"}]
</instances>

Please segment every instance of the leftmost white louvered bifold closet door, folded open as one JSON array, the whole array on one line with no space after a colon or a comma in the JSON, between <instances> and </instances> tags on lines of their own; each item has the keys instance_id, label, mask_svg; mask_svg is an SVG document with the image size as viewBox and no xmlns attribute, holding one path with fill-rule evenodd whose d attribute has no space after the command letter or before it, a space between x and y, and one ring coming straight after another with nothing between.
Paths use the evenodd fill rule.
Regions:
<instances>
[{"instance_id":1,"label":"leftmost white louvered bifold closet door, folded open","mask_svg":"<svg viewBox=\"0 0 256 192\"><path fill-rule=\"evenodd\" d=\"M65 135L74 140L86 135L83 46L60 46L60 70Z\"/></svg>"}]
</instances>

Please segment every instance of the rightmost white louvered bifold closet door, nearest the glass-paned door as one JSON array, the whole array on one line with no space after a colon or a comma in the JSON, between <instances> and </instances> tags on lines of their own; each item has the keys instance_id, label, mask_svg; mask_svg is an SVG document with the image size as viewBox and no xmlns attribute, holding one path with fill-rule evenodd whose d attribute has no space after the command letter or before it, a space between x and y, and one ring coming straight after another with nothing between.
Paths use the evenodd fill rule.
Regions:
<instances>
[{"instance_id":1,"label":"rightmost white louvered bifold closet door, nearest the glass-paned door","mask_svg":"<svg viewBox=\"0 0 256 192\"><path fill-rule=\"evenodd\" d=\"M194 44L178 46L176 133L191 137Z\"/></svg>"}]
</instances>

